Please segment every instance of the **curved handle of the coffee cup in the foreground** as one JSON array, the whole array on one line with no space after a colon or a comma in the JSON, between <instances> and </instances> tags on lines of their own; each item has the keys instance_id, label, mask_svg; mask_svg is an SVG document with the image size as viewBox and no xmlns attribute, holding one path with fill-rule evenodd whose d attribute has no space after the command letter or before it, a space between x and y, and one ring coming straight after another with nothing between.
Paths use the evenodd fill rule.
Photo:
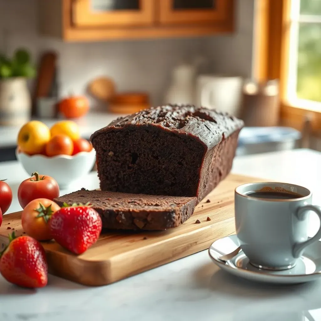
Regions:
<instances>
[{"instance_id":1,"label":"curved handle of the coffee cup in the foreground","mask_svg":"<svg viewBox=\"0 0 321 321\"><path fill-rule=\"evenodd\" d=\"M300 220L303 221L306 219L306 214L307 211L313 211L314 213L316 213L319 217L320 223L321 223L321 207L317 206L317 205L304 205L298 208L298 210L295 213L295 216ZM319 230L317 231L317 234L311 238L308 239L307 241L304 242L299 242L299 243L295 243L293 246L293 257L298 258L301 256L302 251L310 244L314 243L315 241L318 241L319 239L321 239L321 226L319 228Z\"/></svg>"}]
</instances>

